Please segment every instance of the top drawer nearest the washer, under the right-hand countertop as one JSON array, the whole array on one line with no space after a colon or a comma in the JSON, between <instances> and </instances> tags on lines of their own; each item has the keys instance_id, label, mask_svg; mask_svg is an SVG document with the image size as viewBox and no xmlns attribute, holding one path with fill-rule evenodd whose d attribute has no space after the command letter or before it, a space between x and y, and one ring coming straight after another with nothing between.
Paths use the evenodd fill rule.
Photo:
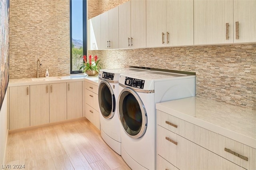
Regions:
<instances>
[{"instance_id":1,"label":"top drawer nearest the washer, under the right-hand countertop","mask_svg":"<svg viewBox=\"0 0 256 170\"><path fill-rule=\"evenodd\" d=\"M194 142L194 124L157 110L158 125Z\"/></svg>"}]
</instances>

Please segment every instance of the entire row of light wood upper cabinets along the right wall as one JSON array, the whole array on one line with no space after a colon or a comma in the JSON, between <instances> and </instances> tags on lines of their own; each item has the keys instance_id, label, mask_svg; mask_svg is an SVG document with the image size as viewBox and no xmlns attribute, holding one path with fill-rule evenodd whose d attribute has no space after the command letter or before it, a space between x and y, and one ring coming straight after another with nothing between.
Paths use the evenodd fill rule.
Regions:
<instances>
[{"instance_id":1,"label":"entire row of light wood upper cabinets along the right wall","mask_svg":"<svg viewBox=\"0 0 256 170\"><path fill-rule=\"evenodd\" d=\"M88 49L256 42L256 0L130 0L88 21Z\"/></svg>"}]
</instances>

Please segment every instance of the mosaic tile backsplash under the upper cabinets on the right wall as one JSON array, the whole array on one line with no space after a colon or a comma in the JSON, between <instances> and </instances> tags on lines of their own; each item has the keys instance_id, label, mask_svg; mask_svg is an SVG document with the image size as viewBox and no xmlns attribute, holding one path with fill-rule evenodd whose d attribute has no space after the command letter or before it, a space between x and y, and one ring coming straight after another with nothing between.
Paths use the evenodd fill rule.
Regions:
<instances>
[{"instance_id":1,"label":"mosaic tile backsplash under the upper cabinets on the right wall","mask_svg":"<svg viewBox=\"0 0 256 170\"><path fill-rule=\"evenodd\" d=\"M256 43L88 51L102 68L142 66L196 72L196 95L256 109Z\"/></svg>"}]
</instances>

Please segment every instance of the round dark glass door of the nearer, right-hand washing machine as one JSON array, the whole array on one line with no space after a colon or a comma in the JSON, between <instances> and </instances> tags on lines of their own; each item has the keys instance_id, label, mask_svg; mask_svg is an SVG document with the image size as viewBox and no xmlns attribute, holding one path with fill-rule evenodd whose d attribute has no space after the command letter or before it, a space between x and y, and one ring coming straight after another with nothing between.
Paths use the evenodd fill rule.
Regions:
<instances>
[{"instance_id":1,"label":"round dark glass door of the nearer, right-hand washing machine","mask_svg":"<svg viewBox=\"0 0 256 170\"><path fill-rule=\"evenodd\" d=\"M138 94L131 88L124 88L118 97L119 119L126 134L134 139L144 135L147 129L147 113Z\"/></svg>"}]
</instances>

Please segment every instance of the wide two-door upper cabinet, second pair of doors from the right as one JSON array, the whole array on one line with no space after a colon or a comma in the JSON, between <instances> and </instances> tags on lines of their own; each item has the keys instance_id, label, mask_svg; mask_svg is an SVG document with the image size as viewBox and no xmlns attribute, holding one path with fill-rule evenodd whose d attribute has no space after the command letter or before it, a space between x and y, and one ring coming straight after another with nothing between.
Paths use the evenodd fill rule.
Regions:
<instances>
[{"instance_id":1,"label":"wide two-door upper cabinet, second pair of doors from the right","mask_svg":"<svg viewBox=\"0 0 256 170\"><path fill-rule=\"evenodd\" d=\"M147 0L147 47L193 45L193 0Z\"/></svg>"}]
</instances>

